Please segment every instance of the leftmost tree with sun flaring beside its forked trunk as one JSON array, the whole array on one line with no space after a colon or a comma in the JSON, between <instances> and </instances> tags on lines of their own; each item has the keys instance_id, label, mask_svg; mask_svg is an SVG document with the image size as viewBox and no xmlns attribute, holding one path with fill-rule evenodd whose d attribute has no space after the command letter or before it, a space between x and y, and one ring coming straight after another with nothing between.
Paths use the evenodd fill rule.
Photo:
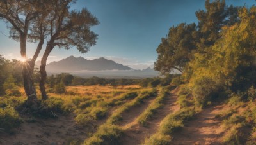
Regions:
<instances>
[{"instance_id":1,"label":"leftmost tree with sun flaring beside its forked trunk","mask_svg":"<svg viewBox=\"0 0 256 145\"><path fill-rule=\"evenodd\" d=\"M24 90L28 96L26 106L38 107L35 86L33 85L33 70L42 45L44 44L45 29L44 18L47 16L47 6L39 0L0 0L0 19L6 22L10 29L10 38L20 42L20 55L26 60L23 63L22 76ZM36 27L42 27L41 31L33 31ZM38 41L38 46L32 59L28 59L26 53L27 41Z\"/></svg>"}]
</instances>

